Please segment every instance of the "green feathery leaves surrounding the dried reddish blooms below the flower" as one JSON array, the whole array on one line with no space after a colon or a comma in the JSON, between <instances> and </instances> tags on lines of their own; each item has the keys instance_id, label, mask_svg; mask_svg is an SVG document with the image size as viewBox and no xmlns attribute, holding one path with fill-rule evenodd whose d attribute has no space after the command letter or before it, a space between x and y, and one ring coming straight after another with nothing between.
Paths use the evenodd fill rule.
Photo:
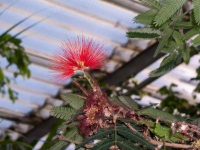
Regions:
<instances>
[{"instance_id":1,"label":"green feathery leaves surrounding the dried reddish blooms below the flower","mask_svg":"<svg viewBox=\"0 0 200 150\"><path fill-rule=\"evenodd\" d=\"M187 140L187 138L179 133L172 133L170 124L175 121L180 121L178 118L152 107L140 108L128 96L111 97L109 101L127 110L134 110L143 118L141 121L137 122L130 118L117 118L117 122L113 128L99 128L96 134L83 140L77 128L79 123L76 121L76 117L80 114L80 110L84 105L84 99L72 93L63 94L62 98L67 102L67 105L52 108L51 115L64 121L58 128L57 133L74 141L74 143L79 142L80 144L76 144L76 149L106 150L113 146L128 150L155 149L155 146L149 143L141 134L143 126L150 126L149 133L154 134L153 137L156 136L161 140L164 139L168 142ZM159 120L162 124L159 122L155 123L155 120ZM127 123L134 131L131 130L130 126L127 126ZM163 136L164 134L166 136ZM95 144L94 141L98 142ZM68 145L69 142L61 140L55 142L50 149L59 150Z\"/></svg>"}]
</instances>

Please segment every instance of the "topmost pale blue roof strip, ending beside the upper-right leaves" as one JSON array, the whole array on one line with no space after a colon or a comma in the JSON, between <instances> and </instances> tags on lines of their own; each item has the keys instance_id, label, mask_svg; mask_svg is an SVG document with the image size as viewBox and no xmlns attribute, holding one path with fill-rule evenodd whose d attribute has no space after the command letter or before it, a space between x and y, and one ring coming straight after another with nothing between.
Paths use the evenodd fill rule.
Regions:
<instances>
[{"instance_id":1,"label":"topmost pale blue roof strip, ending beside the upper-right leaves","mask_svg":"<svg viewBox=\"0 0 200 150\"><path fill-rule=\"evenodd\" d=\"M57 0L54 0L57 2ZM114 24L122 24L128 28L137 28L139 24L133 24L133 18L137 15L132 11L120 8L116 5L99 0L59 0L60 3L70 6L75 10L81 10L92 16L106 19Z\"/></svg>"}]
</instances>

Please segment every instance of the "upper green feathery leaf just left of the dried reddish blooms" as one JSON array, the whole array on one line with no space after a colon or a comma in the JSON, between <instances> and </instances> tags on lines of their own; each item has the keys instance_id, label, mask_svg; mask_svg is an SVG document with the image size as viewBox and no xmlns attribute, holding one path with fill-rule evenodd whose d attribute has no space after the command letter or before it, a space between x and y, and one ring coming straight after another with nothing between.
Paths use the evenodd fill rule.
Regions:
<instances>
[{"instance_id":1,"label":"upper green feathery leaf just left of the dried reddish blooms","mask_svg":"<svg viewBox=\"0 0 200 150\"><path fill-rule=\"evenodd\" d=\"M78 110L83 107L84 99L72 93L65 93L61 95L61 98L66 101L72 108Z\"/></svg>"}]
</instances>

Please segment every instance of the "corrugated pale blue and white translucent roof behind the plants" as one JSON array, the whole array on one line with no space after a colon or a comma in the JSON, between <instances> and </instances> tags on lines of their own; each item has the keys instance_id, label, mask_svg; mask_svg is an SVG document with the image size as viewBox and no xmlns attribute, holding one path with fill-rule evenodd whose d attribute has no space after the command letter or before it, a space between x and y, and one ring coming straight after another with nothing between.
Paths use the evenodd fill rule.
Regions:
<instances>
[{"instance_id":1,"label":"corrugated pale blue and white translucent roof behind the plants","mask_svg":"<svg viewBox=\"0 0 200 150\"><path fill-rule=\"evenodd\" d=\"M21 76L13 79L16 66L12 65L6 69L8 62L5 58L0 58L0 67L3 68L5 75L12 79L10 87L18 93L18 100L15 103L9 100L8 95L0 98L0 113L13 118L33 115L45 120L53 106L63 104L62 100L55 97L63 91L64 86L70 84L71 80L63 85L52 83L48 64L52 54L66 39L84 35L104 43L110 52L110 59L101 70L105 74L114 72L155 42L134 41L126 37L127 30L143 27L140 24L133 24L133 18L148 9L131 0L123 4L120 0L0 0L0 12L7 7L9 8L0 15L0 33L32 14L34 15L9 33L14 35L38 22L18 36L22 39L22 45L32 62L29 66L30 79ZM197 83L190 82L190 79L196 76L195 69L199 66L199 59L200 55L192 57L189 65L179 65L145 89L156 92L162 86L175 83L178 85L176 90L182 92L185 98L192 100L192 92ZM158 60L145 68L135 79L140 83L148 78L149 72L157 68L160 62L161 60ZM200 95L197 95L196 101L200 101ZM143 105L159 102L159 99L150 96L145 96L140 101ZM2 119L0 122L2 131L11 128L20 134L27 133L33 127L28 123L8 119ZM9 133L13 140L20 137L16 132Z\"/></svg>"}]
</instances>

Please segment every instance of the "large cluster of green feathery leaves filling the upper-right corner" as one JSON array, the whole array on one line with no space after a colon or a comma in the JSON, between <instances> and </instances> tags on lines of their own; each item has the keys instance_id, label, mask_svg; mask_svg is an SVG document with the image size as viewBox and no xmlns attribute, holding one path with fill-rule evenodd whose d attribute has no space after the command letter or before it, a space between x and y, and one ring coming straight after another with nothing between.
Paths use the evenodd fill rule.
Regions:
<instances>
[{"instance_id":1,"label":"large cluster of green feathery leaves filling the upper-right corner","mask_svg":"<svg viewBox=\"0 0 200 150\"><path fill-rule=\"evenodd\" d=\"M200 45L200 9L199 0L193 0L193 9L184 10L187 0L140 0L150 10L139 14L134 21L146 25L142 29L127 32L129 38L157 39L158 47L154 57L165 53L160 67L150 73L150 77L158 77L169 72L182 61L188 63L192 51ZM190 16L190 19L185 19Z\"/></svg>"}]
</instances>

